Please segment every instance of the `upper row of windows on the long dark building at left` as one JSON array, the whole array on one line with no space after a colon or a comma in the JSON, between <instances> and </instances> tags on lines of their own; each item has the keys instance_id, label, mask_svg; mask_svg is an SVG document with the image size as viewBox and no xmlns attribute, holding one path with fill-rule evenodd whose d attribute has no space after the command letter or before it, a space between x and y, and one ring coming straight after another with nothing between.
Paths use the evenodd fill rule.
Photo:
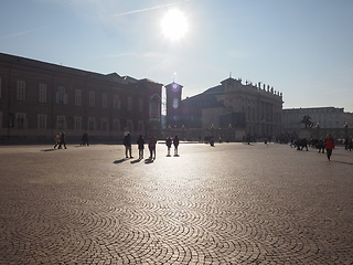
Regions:
<instances>
[{"instance_id":1,"label":"upper row of windows on the long dark building at left","mask_svg":"<svg viewBox=\"0 0 353 265\"><path fill-rule=\"evenodd\" d=\"M40 83L39 84L39 102L40 103L47 103L47 87L46 84ZM17 81L17 99L18 100L25 100L26 99L26 91L25 91L25 82L18 80ZM64 86L58 86L56 96L56 104L66 105L68 104L68 94ZM1 77L0 77L0 98L1 98ZM139 113L143 112L143 99L138 99L138 110ZM75 98L74 98L75 106L81 107L83 105L83 93L82 89L75 89ZM96 107L96 92L89 91L88 94L88 106ZM101 93L101 108L108 108L108 94ZM121 99L118 95L115 95L113 98L113 108L121 109ZM127 98L127 110L132 110L132 97Z\"/></svg>"}]
</instances>

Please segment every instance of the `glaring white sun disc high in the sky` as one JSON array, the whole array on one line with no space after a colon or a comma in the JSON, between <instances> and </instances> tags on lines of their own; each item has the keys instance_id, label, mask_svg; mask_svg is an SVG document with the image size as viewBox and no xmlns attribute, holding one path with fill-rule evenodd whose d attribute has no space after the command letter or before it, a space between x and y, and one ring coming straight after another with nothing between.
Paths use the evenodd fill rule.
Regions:
<instances>
[{"instance_id":1,"label":"glaring white sun disc high in the sky","mask_svg":"<svg viewBox=\"0 0 353 265\"><path fill-rule=\"evenodd\" d=\"M178 9L169 10L161 20L162 33L171 41L182 39L188 30L189 24L185 15Z\"/></svg>"}]
</instances>

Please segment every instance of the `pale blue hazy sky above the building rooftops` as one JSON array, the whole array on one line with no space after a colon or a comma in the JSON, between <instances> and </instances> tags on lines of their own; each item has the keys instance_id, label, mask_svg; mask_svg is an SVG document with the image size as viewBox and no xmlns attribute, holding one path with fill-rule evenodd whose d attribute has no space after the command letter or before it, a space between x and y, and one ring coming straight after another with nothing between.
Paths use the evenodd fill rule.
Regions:
<instances>
[{"instance_id":1,"label":"pale blue hazy sky above the building rooftops","mask_svg":"<svg viewBox=\"0 0 353 265\"><path fill-rule=\"evenodd\" d=\"M353 112L352 0L1 0L0 52L174 78L183 98L232 73L274 86L284 108Z\"/></svg>"}]
</instances>

